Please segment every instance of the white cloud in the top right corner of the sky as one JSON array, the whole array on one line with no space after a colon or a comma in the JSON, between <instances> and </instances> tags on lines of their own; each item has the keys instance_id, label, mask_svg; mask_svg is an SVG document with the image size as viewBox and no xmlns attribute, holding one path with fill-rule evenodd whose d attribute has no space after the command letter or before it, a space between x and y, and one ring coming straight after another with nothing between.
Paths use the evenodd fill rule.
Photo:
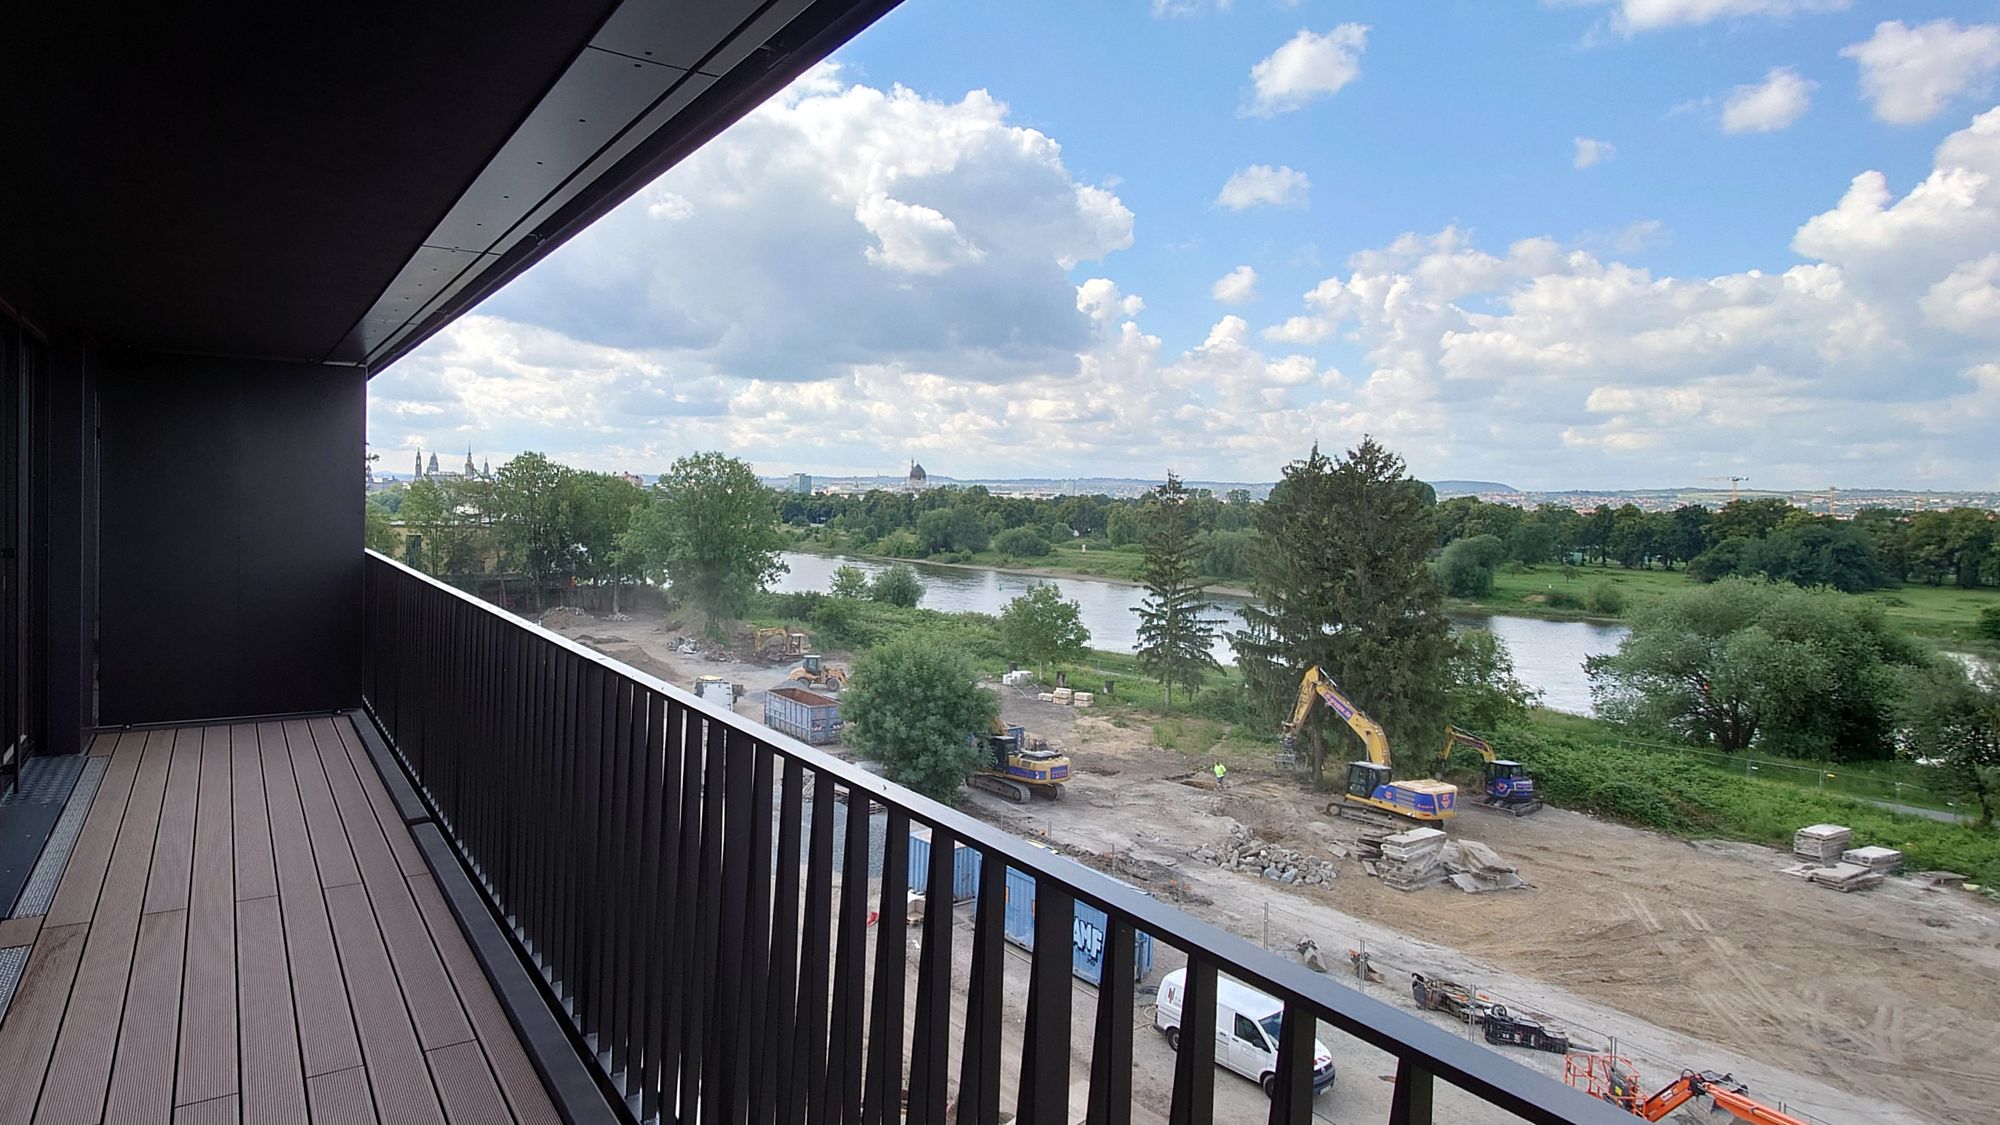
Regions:
<instances>
[{"instance_id":1,"label":"white cloud in the top right corner of the sky","mask_svg":"<svg viewBox=\"0 0 2000 1125\"><path fill-rule=\"evenodd\" d=\"M2000 70L2000 26L1932 20L1876 24L1874 36L1840 48L1862 70L1862 94L1890 124L1920 124L1950 102L1982 94Z\"/></svg>"}]
</instances>

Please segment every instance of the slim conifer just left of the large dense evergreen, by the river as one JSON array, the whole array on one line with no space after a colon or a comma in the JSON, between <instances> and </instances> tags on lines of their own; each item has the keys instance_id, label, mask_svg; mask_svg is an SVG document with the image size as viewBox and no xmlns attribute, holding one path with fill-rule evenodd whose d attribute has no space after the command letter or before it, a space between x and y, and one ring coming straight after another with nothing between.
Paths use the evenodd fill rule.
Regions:
<instances>
[{"instance_id":1,"label":"slim conifer just left of the large dense evergreen, by the river","mask_svg":"<svg viewBox=\"0 0 2000 1125\"><path fill-rule=\"evenodd\" d=\"M1198 579L1198 528L1188 500L1188 486L1168 472L1140 526L1146 599L1134 611L1138 663L1166 689L1168 709L1174 707L1176 687L1194 695L1216 669L1216 625L1204 617L1208 599Z\"/></svg>"}]
</instances>

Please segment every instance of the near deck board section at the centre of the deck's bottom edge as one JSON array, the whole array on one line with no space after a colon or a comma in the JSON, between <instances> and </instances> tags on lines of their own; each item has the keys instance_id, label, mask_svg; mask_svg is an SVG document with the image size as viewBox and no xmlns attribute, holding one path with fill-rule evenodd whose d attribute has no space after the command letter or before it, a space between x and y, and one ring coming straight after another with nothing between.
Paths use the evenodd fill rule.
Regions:
<instances>
[{"instance_id":1,"label":"near deck board section at the centre of the deck's bottom edge","mask_svg":"<svg viewBox=\"0 0 2000 1125\"><path fill-rule=\"evenodd\" d=\"M236 903L236 1003L244 1121L306 1125L306 1071L276 895Z\"/></svg>"}]
</instances>

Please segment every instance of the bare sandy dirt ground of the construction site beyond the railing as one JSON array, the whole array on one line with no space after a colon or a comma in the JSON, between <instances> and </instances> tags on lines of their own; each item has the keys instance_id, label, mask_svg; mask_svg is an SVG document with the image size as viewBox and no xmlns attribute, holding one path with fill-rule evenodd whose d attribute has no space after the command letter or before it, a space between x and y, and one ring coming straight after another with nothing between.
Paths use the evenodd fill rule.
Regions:
<instances>
[{"instance_id":1,"label":"bare sandy dirt ground of the construction site beyond the railing","mask_svg":"<svg viewBox=\"0 0 2000 1125\"><path fill-rule=\"evenodd\" d=\"M1832 1125L1994 1121L2000 911L1972 895L1900 879L1840 895L1780 875L1788 857L1770 849L1690 845L1558 809L1466 811L1450 827L1516 863L1524 891L1400 893L1354 859L1332 887L1286 887L1188 853L1242 825L1332 855L1360 827L1328 819L1324 797L1242 767L1222 793L1174 781L1208 761L1150 745L1138 719L1120 727L1018 695L1006 713L1068 749L1076 781L1058 803L974 795L978 815L1154 893L1170 895L1168 871L1194 893L1186 909L1272 949L1300 937L1336 957L1366 947L1386 975L1370 985L1380 999L1408 1003L1408 971L1446 973L1584 1043L1616 1041L1648 1089L1682 1067L1720 1069ZM1504 1051L1562 1073L1554 1055Z\"/></svg>"}]
</instances>

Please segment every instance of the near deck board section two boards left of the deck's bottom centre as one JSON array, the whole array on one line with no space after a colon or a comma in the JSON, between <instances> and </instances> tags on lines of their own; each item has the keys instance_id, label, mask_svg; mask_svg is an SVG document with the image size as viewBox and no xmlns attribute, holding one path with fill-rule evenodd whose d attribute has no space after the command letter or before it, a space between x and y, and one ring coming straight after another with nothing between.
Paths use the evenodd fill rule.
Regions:
<instances>
[{"instance_id":1,"label":"near deck board section two boards left of the deck's bottom centre","mask_svg":"<svg viewBox=\"0 0 2000 1125\"><path fill-rule=\"evenodd\" d=\"M140 919L104 1125L150 1125L174 1115L174 1045L180 1041L186 947L186 911L160 911Z\"/></svg>"}]
</instances>

